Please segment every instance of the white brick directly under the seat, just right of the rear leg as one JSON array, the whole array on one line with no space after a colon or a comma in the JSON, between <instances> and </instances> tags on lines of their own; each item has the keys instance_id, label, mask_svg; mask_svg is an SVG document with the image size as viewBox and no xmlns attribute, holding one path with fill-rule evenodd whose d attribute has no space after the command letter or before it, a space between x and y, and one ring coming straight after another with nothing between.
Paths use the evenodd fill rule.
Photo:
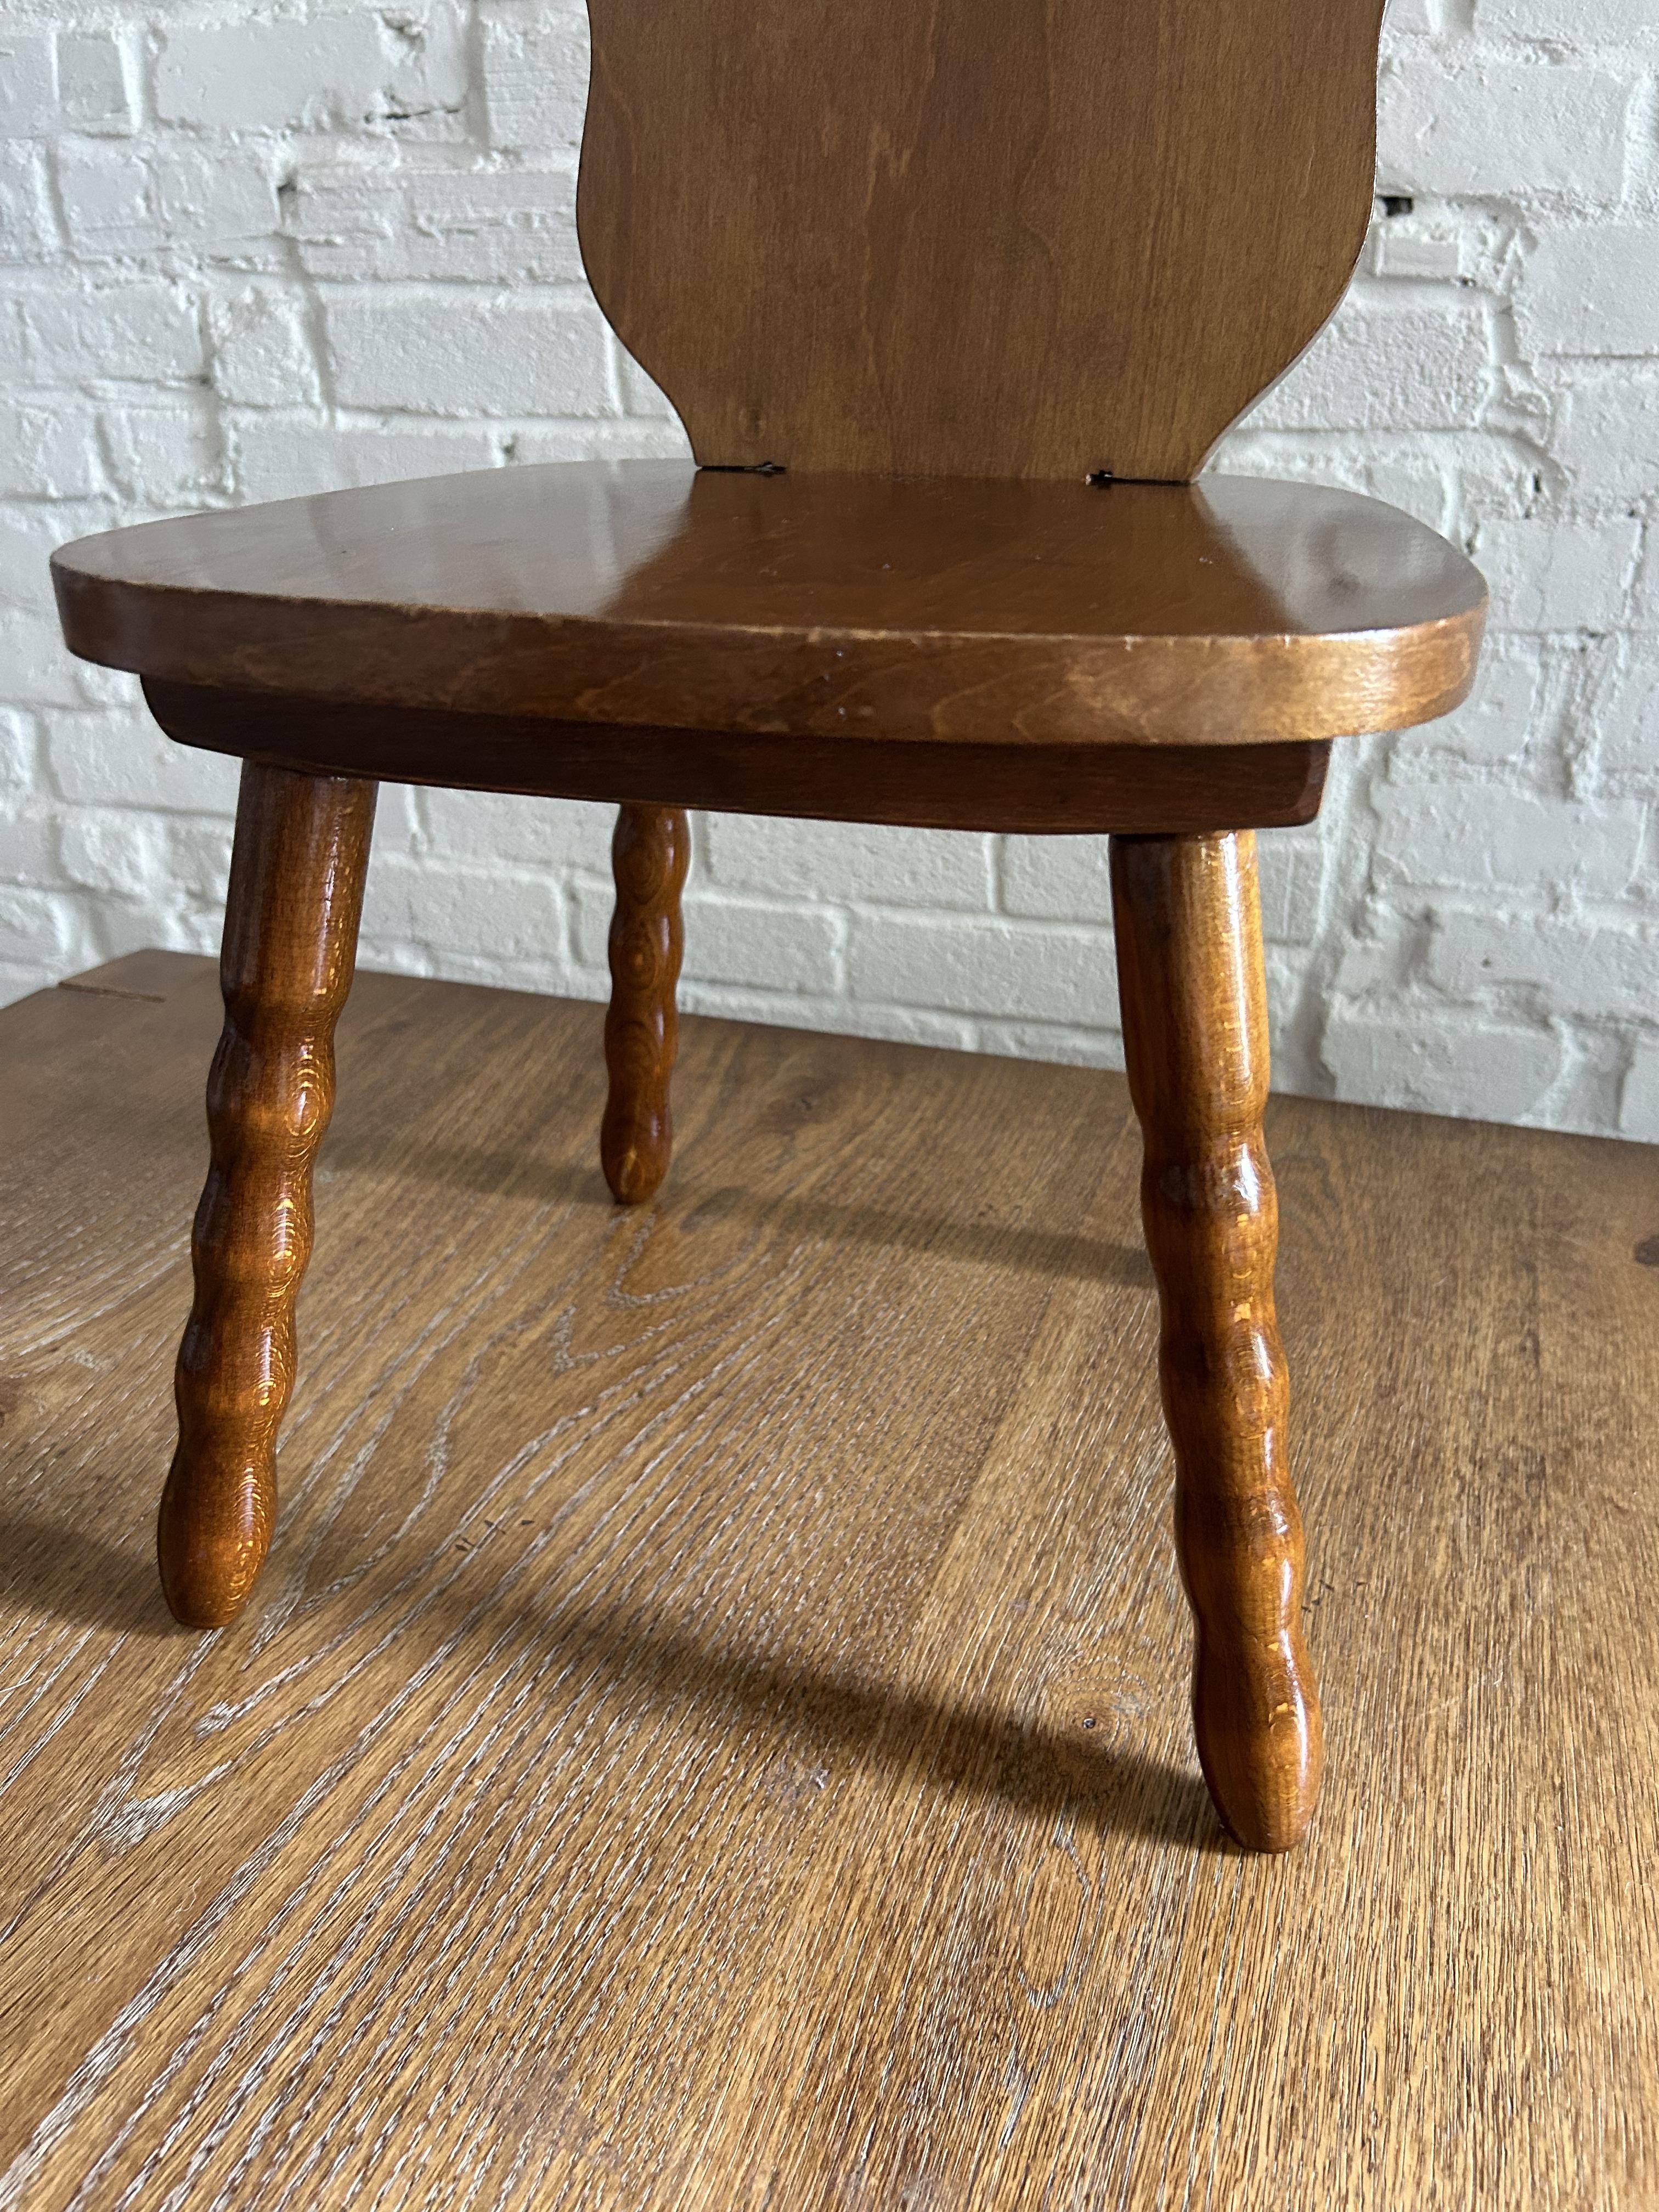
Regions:
<instances>
[{"instance_id":1,"label":"white brick directly under the seat, just right of the rear leg","mask_svg":"<svg viewBox=\"0 0 1659 2212\"><path fill-rule=\"evenodd\" d=\"M708 880L737 891L989 911L987 841L953 830L708 816Z\"/></svg>"}]
</instances>

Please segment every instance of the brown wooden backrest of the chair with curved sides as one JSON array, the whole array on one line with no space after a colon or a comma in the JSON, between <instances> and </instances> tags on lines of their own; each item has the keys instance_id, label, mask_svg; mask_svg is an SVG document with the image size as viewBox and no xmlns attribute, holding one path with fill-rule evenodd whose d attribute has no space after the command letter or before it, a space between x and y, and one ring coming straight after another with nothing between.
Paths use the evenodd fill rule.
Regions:
<instances>
[{"instance_id":1,"label":"brown wooden backrest of the chair with curved sides","mask_svg":"<svg viewBox=\"0 0 1659 2212\"><path fill-rule=\"evenodd\" d=\"M1181 482L1336 307L1383 0L588 0L577 221L706 465Z\"/></svg>"}]
</instances>

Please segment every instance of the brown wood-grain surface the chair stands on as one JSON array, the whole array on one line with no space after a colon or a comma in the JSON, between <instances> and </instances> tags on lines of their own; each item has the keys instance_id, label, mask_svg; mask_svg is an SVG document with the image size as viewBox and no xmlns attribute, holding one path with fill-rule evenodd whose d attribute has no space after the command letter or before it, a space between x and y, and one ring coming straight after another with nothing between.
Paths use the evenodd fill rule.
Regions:
<instances>
[{"instance_id":1,"label":"brown wood-grain surface the chair stands on","mask_svg":"<svg viewBox=\"0 0 1659 2212\"><path fill-rule=\"evenodd\" d=\"M1121 1079L363 975L248 1617L210 967L0 1018L0 2203L1659 2203L1659 1152L1276 1102L1307 1847L1186 1721Z\"/></svg>"}]
</instances>

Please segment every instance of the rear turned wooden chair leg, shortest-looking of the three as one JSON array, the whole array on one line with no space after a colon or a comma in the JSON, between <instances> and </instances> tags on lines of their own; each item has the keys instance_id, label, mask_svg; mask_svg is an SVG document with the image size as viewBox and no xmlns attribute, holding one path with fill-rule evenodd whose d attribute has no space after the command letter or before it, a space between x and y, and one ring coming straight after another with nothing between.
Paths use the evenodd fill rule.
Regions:
<instances>
[{"instance_id":1,"label":"rear turned wooden chair leg, shortest-looking of the three","mask_svg":"<svg viewBox=\"0 0 1659 2212\"><path fill-rule=\"evenodd\" d=\"M611 1097L599 1124L604 1179L619 1206L641 1206L668 1175L675 1124L668 1079L675 1073L679 1018L675 984L686 931L679 894L690 858L684 807L622 807L611 841L617 907L611 916L611 1011L604 1064Z\"/></svg>"}]
</instances>

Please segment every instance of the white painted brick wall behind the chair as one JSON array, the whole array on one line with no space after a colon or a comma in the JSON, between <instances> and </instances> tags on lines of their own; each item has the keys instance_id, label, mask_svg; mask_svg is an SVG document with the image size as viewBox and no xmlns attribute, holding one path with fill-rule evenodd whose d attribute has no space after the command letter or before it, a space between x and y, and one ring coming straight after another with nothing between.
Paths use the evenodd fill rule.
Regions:
<instances>
[{"instance_id":1,"label":"white painted brick wall behind the chair","mask_svg":"<svg viewBox=\"0 0 1659 2212\"><path fill-rule=\"evenodd\" d=\"M582 281L584 71L571 0L7 0L0 995L212 949L230 849L234 763L58 644L55 542L684 449ZM1279 1082L1659 1139L1659 4L1394 0L1380 139L1221 465L1411 509L1495 617L1471 706L1263 838ZM1104 841L695 843L690 1006L1117 1060ZM608 905L608 810L387 787L363 960L597 998Z\"/></svg>"}]
</instances>

